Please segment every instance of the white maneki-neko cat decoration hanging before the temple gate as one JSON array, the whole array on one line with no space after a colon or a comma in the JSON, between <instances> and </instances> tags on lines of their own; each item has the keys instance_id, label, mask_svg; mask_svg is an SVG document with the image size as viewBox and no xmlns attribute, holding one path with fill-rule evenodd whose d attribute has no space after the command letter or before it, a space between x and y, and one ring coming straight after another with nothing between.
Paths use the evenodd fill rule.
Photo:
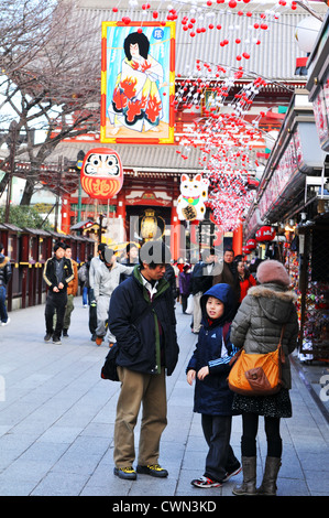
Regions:
<instances>
[{"instance_id":1,"label":"white maneki-neko cat decoration hanging before the temple gate","mask_svg":"<svg viewBox=\"0 0 329 518\"><path fill-rule=\"evenodd\" d=\"M191 179L187 174L182 174L180 195L177 201L178 219L201 222L205 218L208 186L209 180L204 179L201 174L196 174Z\"/></svg>"}]
</instances>

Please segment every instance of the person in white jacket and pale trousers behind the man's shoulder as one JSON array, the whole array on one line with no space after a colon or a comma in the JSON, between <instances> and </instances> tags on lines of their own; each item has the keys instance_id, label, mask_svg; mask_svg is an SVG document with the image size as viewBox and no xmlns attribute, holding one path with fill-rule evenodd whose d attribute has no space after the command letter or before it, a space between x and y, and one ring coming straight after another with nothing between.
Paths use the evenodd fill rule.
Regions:
<instances>
[{"instance_id":1,"label":"person in white jacket and pale trousers behind the man's shoulder","mask_svg":"<svg viewBox=\"0 0 329 518\"><path fill-rule=\"evenodd\" d=\"M101 263L95 271L94 295L97 302L97 330L96 344L101 345L107 334L107 321L109 317L109 306L111 294L120 283L121 273L131 274L134 267L127 267L117 262L117 257L112 249L105 248L100 253ZM110 347L116 343L116 337L108 331Z\"/></svg>"}]
</instances>

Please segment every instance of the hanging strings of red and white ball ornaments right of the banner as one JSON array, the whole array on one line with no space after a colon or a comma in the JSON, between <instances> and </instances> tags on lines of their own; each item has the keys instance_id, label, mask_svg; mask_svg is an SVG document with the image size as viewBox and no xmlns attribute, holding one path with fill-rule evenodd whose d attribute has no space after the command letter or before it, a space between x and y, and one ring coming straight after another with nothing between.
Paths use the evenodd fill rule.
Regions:
<instances>
[{"instance_id":1,"label":"hanging strings of red and white ball ornaments right of the banner","mask_svg":"<svg viewBox=\"0 0 329 518\"><path fill-rule=\"evenodd\" d=\"M138 6L134 1L130 4L131 15L121 18L127 25L132 21L134 7ZM164 8L166 4L167 9ZM252 158L251 151L253 142L263 139L263 133L259 130L262 114L255 116L251 125L244 117L266 80L255 76L233 99L230 98L230 93L237 80L248 75L245 67L239 65L248 64L254 48L261 45L263 35L279 19L281 13L296 10L297 4L294 0L278 0L264 12L254 9L251 0L206 0L202 4L190 6L176 2L175 7L162 2L156 8L147 2L141 7L145 21L156 20L165 25L167 21L177 21L180 17L176 30L180 28L193 40L202 37L207 32L219 31L223 34L221 47L235 45L238 68L233 68L233 64L227 67L198 60L189 78L182 79L177 75L173 100L175 111L197 111L202 108L201 116L180 140L180 150L177 152L183 160L187 160L191 148L200 149L199 164L204 175L210 180L207 204L212 208L215 222L224 231L233 230L243 220L254 197L254 191L248 187L248 176L249 170L255 169L259 163ZM119 4L113 8L113 12L118 12L118 8ZM186 12L188 9L189 12ZM242 17L248 19L250 29L244 41L239 26ZM143 23L138 31L143 31ZM205 108L206 94L208 104Z\"/></svg>"}]
</instances>

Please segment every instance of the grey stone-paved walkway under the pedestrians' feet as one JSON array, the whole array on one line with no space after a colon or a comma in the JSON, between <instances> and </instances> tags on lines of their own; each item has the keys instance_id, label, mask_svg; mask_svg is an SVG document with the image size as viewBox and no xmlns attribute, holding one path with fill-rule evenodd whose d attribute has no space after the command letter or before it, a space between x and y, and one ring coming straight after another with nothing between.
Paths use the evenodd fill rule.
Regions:
<instances>
[{"instance_id":1,"label":"grey stone-paved walkway under the pedestrians' feet","mask_svg":"<svg viewBox=\"0 0 329 518\"><path fill-rule=\"evenodd\" d=\"M0 379L4 384L0 400L0 496L232 496L242 473L206 492L190 484L204 473L207 444L200 416L193 412L194 388L187 385L185 375L197 336L191 334L190 317L182 314L179 304L180 355L173 376L167 378L168 425L161 442L160 463L169 472L166 479L140 475L127 482L113 475L120 386L100 378L108 348L90 341L88 311L81 299L75 300L69 337L63 338L62 346L43 342L43 305L10 316L10 325L0 328ZM328 422L298 369L293 367L292 373L294 416L283 420L281 427L284 449L278 495L328 495ZM312 376L315 385L317 373ZM140 422L136 449L139 427ZM239 458L240 441L241 417L234 417L231 445ZM257 451L260 484L266 456L262 418Z\"/></svg>"}]
</instances>

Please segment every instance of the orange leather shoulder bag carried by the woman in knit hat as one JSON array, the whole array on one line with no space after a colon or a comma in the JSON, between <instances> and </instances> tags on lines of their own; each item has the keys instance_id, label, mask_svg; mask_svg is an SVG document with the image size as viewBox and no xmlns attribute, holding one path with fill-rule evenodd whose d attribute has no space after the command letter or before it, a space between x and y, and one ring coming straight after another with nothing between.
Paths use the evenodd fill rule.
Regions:
<instances>
[{"instance_id":1,"label":"orange leather shoulder bag carried by the woman in knit hat","mask_svg":"<svg viewBox=\"0 0 329 518\"><path fill-rule=\"evenodd\" d=\"M270 396L282 388L282 364L285 356L282 339L285 325L281 332L277 348L273 353L246 354L243 348L231 359L233 364L228 377L228 384L233 392L243 396Z\"/></svg>"}]
</instances>

